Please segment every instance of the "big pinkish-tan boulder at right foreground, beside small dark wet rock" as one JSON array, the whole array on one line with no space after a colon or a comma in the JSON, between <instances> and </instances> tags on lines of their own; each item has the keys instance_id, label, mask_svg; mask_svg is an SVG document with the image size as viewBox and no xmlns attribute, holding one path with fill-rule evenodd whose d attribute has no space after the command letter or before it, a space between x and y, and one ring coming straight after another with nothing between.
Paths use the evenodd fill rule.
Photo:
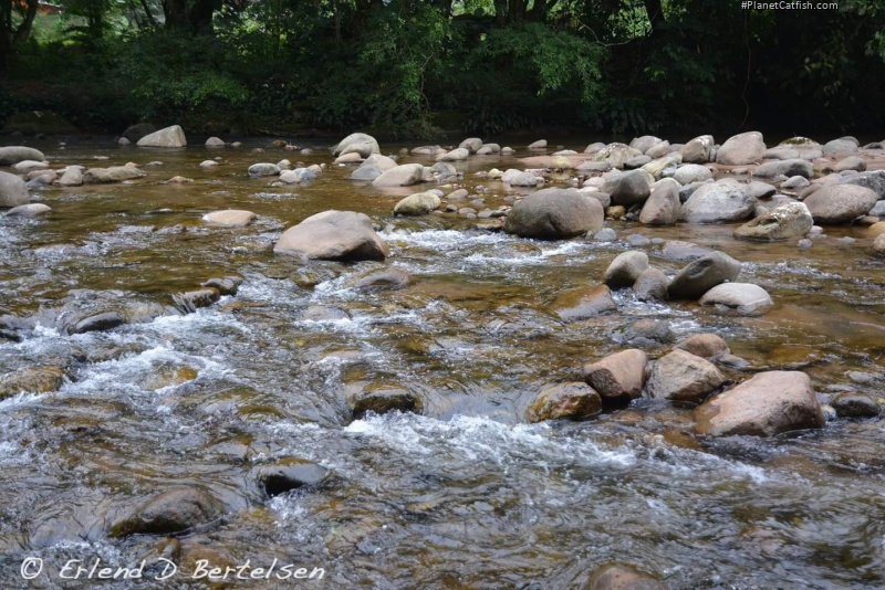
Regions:
<instances>
[{"instance_id":1,"label":"big pinkish-tan boulder at right foreground, beside small dark wet rock","mask_svg":"<svg viewBox=\"0 0 885 590\"><path fill-rule=\"evenodd\" d=\"M811 379L800 371L760 372L697 408L695 420L697 431L711 436L773 436L824 425Z\"/></svg>"}]
</instances>

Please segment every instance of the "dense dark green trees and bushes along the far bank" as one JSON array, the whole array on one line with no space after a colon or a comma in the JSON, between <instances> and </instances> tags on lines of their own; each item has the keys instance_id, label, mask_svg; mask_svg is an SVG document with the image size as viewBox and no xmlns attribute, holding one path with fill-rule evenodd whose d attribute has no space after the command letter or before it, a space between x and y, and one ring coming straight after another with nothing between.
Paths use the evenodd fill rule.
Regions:
<instances>
[{"instance_id":1,"label":"dense dark green trees and bushes along the far bank","mask_svg":"<svg viewBox=\"0 0 885 590\"><path fill-rule=\"evenodd\" d=\"M424 136L885 123L883 0L56 1L0 0L0 118Z\"/></svg>"}]
</instances>

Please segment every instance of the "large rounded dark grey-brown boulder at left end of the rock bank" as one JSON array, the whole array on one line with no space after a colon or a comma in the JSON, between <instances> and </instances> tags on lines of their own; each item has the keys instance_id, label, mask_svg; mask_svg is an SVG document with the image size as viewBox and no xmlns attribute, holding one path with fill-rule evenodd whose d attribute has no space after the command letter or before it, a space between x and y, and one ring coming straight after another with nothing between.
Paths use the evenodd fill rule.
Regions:
<instances>
[{"instance_id":1,"label":"large rounded dark grey-brown boulder at left end of the rock bank","mask_svg":"<svg viewBox=\"0 0 885 590\"><path fill-rule=\"evenodd\" d=\"M504 223L507 233L521 238L562 240L602 229L600 201L576 189L543 189L516 203Z\"/></svg>"}]
</instances>

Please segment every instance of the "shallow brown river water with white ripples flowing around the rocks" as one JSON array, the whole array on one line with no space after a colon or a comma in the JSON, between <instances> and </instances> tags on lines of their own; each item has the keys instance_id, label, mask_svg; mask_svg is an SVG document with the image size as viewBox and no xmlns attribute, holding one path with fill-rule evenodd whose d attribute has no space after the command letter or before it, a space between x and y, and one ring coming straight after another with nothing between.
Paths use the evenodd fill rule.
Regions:
<instances>
[{"instance_id":1,"label":"shallow brown river water with white ripples flowing around the rocks","mask_svg":"<svg viewBox=\"0 0 885 590\"><path fill-rule=\"evenodd\" d=\"M181 563L277 558L324 568L322 580L303 582L310 588L575 588L608 561L652 571L668 588L885 586L881 420L707 441L693 434L688 409L650 400L581 423L523 419L540 386L579 379L584 362L620 350L616 335L644 317L679 337L722 335L749 370L803 368L824 399L846 388L882 394L885 265L868 255L865 230L831 229L800 250L736 242L728 225L610 221L617 242L543 243L451 214L394 218L414 191L355 186L351 168L289 188L246 175L250 164L285 157L330 162L323 150L42 147L53 165L164 164L131 185L34 191L53 209L48 220L0 219L0 315L33 324L21 343L0 339L0 375L37 366L66 375L58 392L0 401L0 588L135 587L58 571L69 559L132 567L156 555L157 537L112 539L107 523L178 484L202 485L226 507L220 521L180 539ZM216 156L216 170L199 168ZM459 166L471 192L492 189L483 207L493 209L508 193L472 172L517 165L477 157ZM195 182L162 183L176 175ZM218 209L259 218L244 229L207 226L201 215ZM272 254L285 228L326 209L373 217L388 261L304 265ZM562 324L551 302L597 283L632 247L623 241L631 233L727 252L745 263L741 281L762 285L775 306L723 316L638 303L624 291L617 314ZM642 250L668 274L681 266L658 244ZM384 265L409 272L412 285L348 286ZM105 333L58 329L60 310L168 306L174 293L230 274L244 278L237 296L195 314ZM314 305L348 318L301 319ZM648 348L653 357L666 350ZM876 377L857 384L848 371ZM377 381L420 392L423 415L352 421L348 396ZM292 456L325 466L330 481L266 498L250 472ZM19 575L27 557L46 565L33 582ZM201 582L180 573L140 586Z\"/></svg>"}]
</instances>

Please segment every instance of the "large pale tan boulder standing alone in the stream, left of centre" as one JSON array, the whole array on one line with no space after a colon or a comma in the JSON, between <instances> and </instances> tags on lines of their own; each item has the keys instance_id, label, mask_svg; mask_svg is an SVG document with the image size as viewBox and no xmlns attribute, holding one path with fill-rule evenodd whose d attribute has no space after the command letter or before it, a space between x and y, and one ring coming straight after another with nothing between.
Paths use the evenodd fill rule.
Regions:
<instances>
[{"instance_id":1,"label":"large pale tan boulder standing alone in the stream, left of centre","mask_svg":"<svg viewBox=\"0 0 885 590\"><path fill-rule=\"evenodd\" d=\"M277 254L316 260L384 260L388 250L372 220L353 211L323 211L288 229L273 246Z\"/></svg>"}]
</instances>

